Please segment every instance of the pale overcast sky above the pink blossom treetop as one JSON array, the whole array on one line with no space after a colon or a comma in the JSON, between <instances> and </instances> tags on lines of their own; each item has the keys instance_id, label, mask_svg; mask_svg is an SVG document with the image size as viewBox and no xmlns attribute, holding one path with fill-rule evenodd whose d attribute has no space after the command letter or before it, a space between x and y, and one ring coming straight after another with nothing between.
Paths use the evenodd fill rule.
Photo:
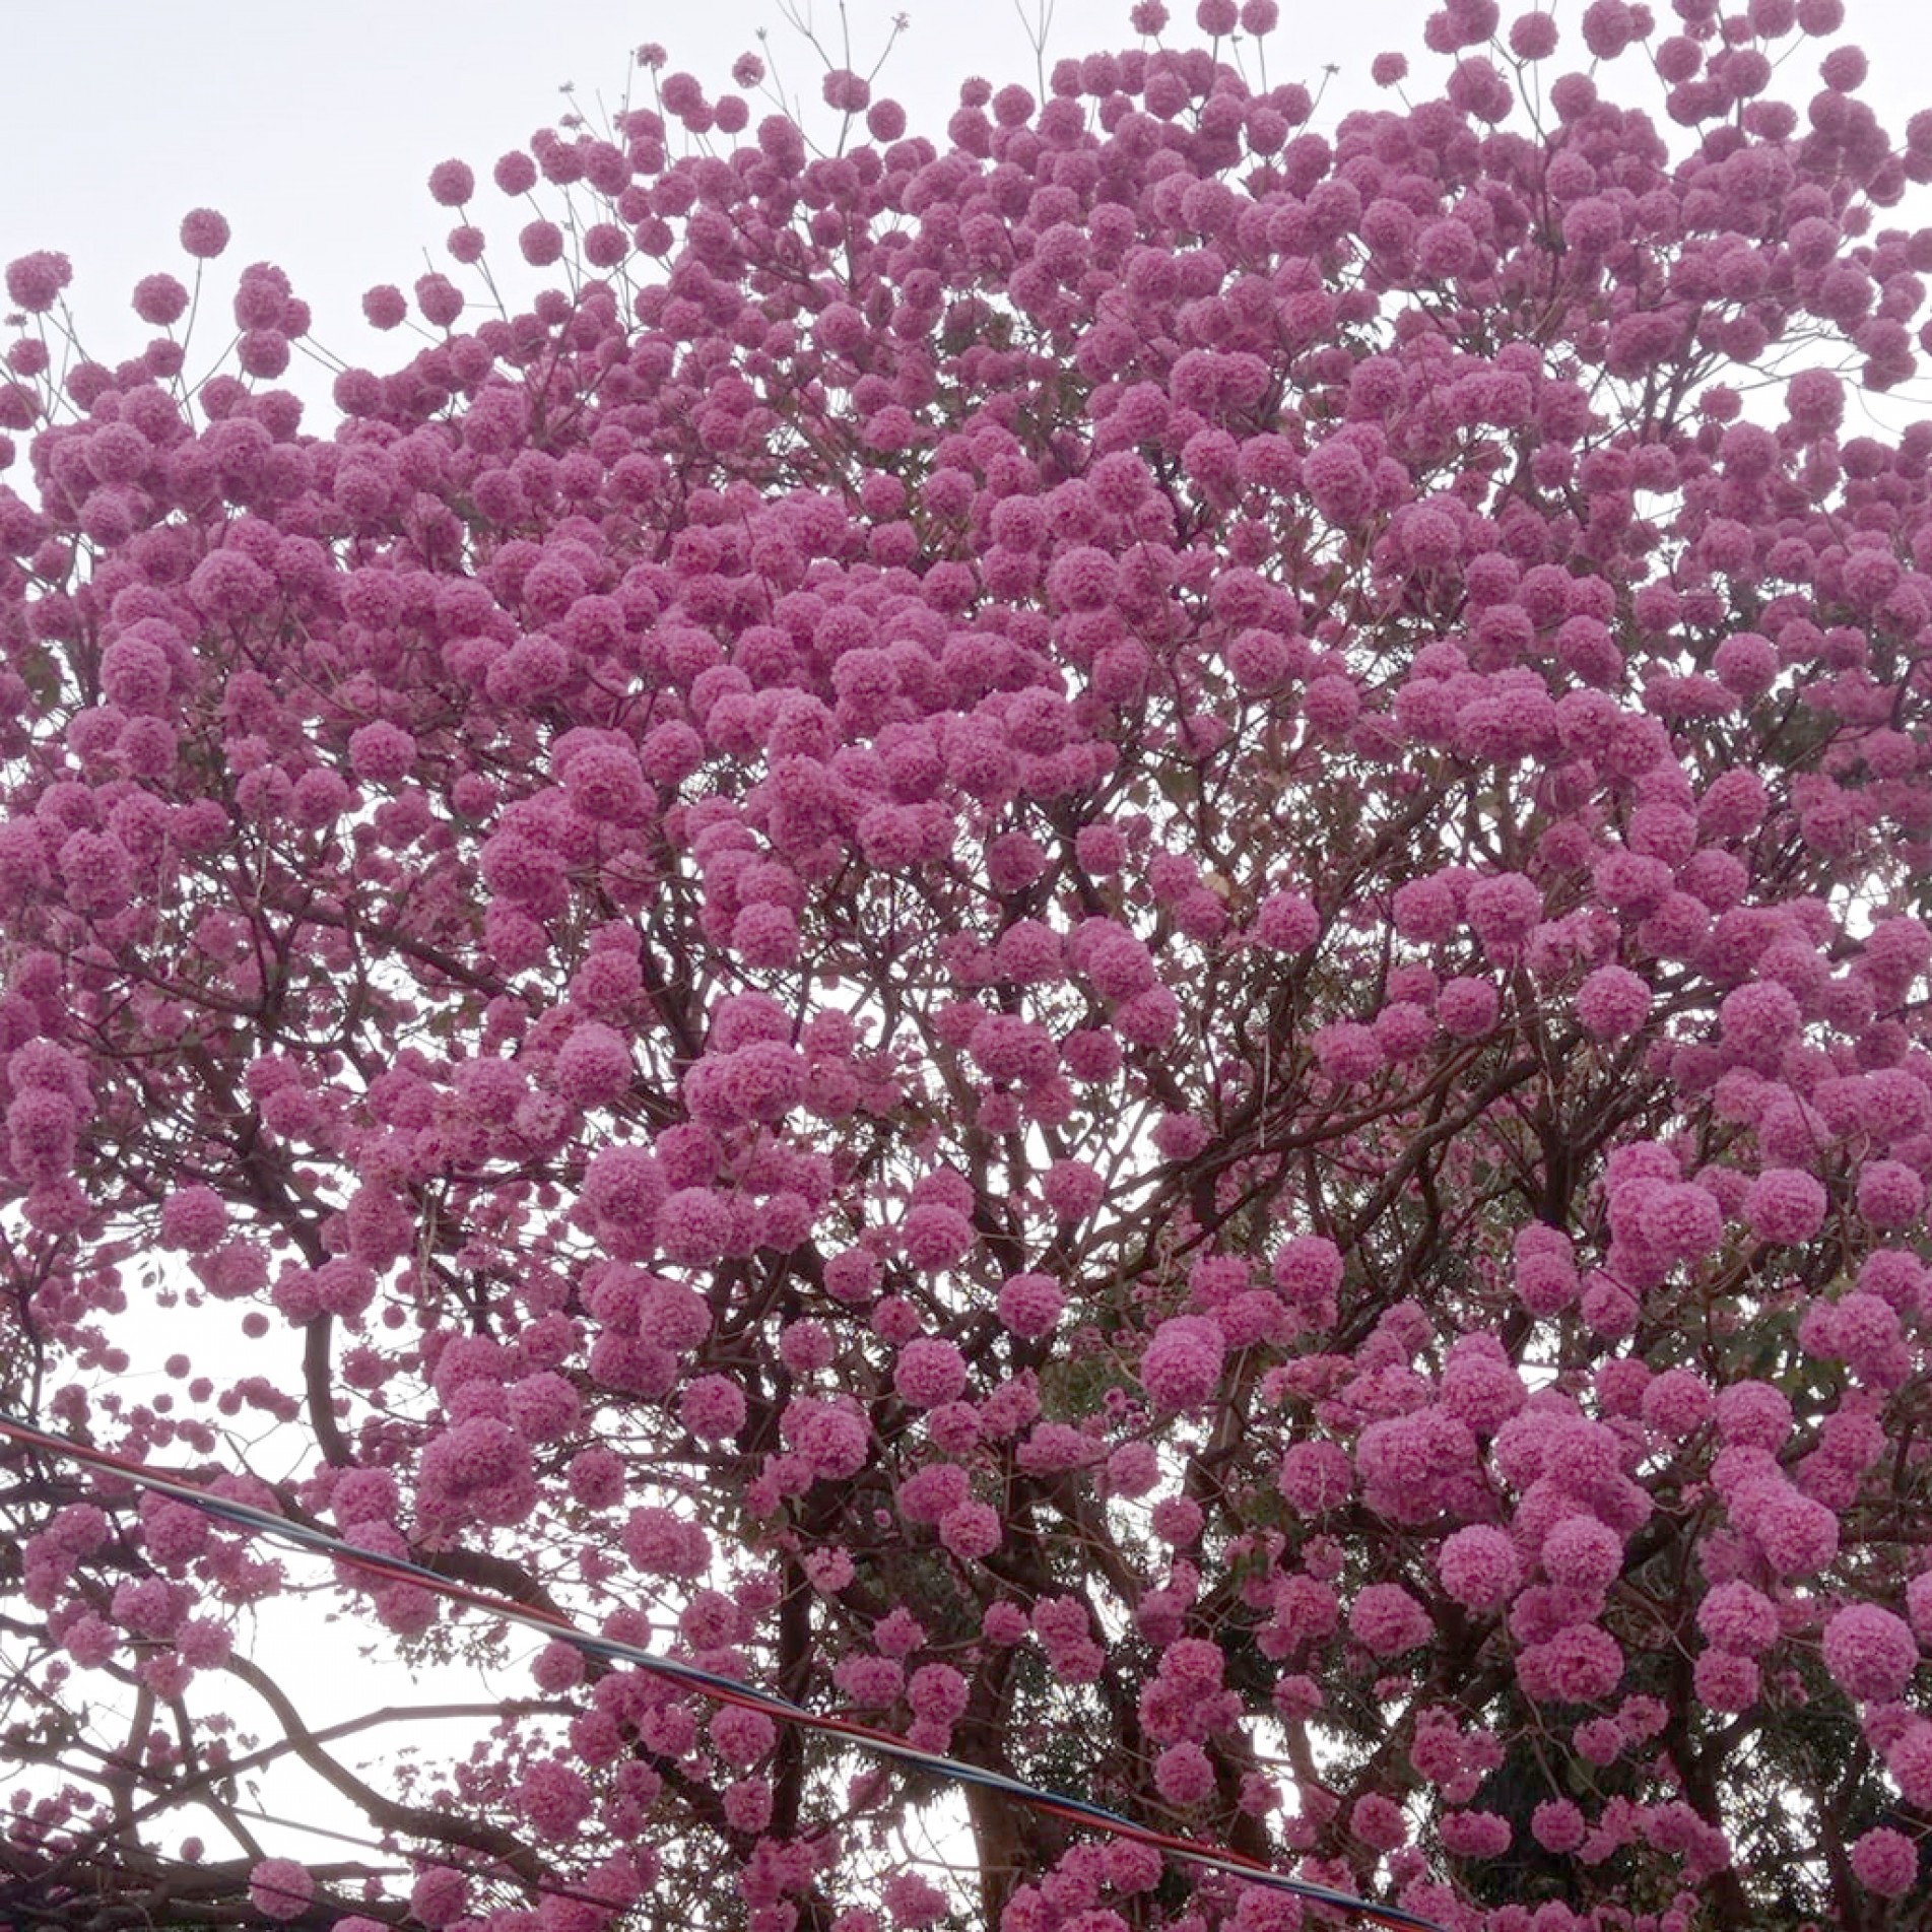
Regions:
<instances>
[{"instance_id":1,"label":"pale overcast sky above the pink blossom treetop","mask_svg":"<svg viewBox=\"0 0 1932 1932\"><path fill-rule=\"evenodd\" d=\"M811 4L817 35L837 54L837 0ZM1037 17L1045 0L1024 4ZM1667 0L1654 6L1667 23ZM1366 70L1383 48L1408 50L1418 81L1441 71L1420 48L1428 10L1428 0L1285 0L1283 25L1265 46L1269 79L1318 83L1321 70L1335 66L1320 116L1331 126L1335 106L1374 97ZM893 0L850 0L846 21L860 71L891 39L898 12ZM1169 41L1188 44L1194 0L1171 0L1171 12L1177 27ZM1505 21L1515 12L1517 0L1505 0ZM1580 6L1555 0L1555 12L1569 46L1580 52ZM1126 0L1057 0L1049 62L1138 44L1126 14ZM943 139L966 73L993 81L1034 73L1012 0L904 0L904 17L877 91L906 104L914 131ZM1924 17L1920 0L1847 0L1845 37L1872 56L1868 99L1893 131L1915 108L1932 106ZM487 170L506 147L570 110L560 87L574 83L574 102L597 118L599 97L614 108L626 87L639 85L636 46L659 41L670 54L667 71L688 70L717 93L730 85L730 62L759 46L759 27L769 31L765 46L779 75L815 104L823 68L786 25L779 0L572 0L564 8L529 0L330 0L307 8L89 0L85 10L14 0L0 37L8 64L0 89L0 261L39 247L68 253L81 332L93 354L118 359L147 336L128 309L133 282L155 269L184 272L180 216L216 207L234 224L234 243L218 265L228 274L214 280L222 309L236 267L276 261L311 303L317 340L348 361L396 361L404 346L373 338L361 321L361 292L373 282L408 286L423 272L425 251L437 267L450 267L442 238L452 218L425 189L437 160L454 155L477 168L483 185L473 218L491 234L495 253L512 253L527 211L512 209L489 185ZM1801 43L1779 85L1803 100L1816 87L1822 52L1820 43ZM1609 85L1634 66L1636 56L1627 56ZM1625 87L1638 79L1633 73ZM759 102L753 108L769 112ZM1920 209L1918 220L1928 218Z\"/></svg>"}]
</instances>

